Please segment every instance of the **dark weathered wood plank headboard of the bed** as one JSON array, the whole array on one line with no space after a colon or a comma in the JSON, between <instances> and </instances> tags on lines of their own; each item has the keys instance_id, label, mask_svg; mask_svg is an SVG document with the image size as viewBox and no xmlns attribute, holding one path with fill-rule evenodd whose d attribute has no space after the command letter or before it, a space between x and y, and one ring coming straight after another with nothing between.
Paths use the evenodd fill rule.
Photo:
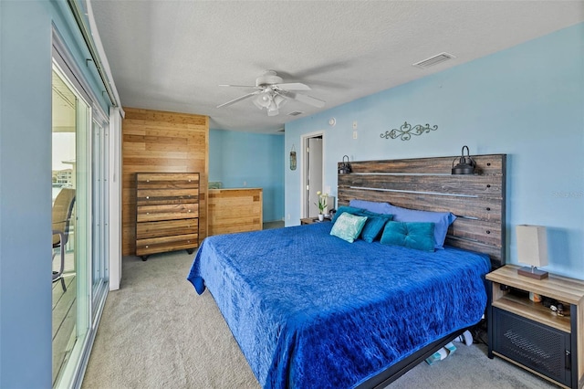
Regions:
<instances>
[{"instance_id":1,"label":"dark weathered wood plank headboard of the bed","mask_svg":"<svg viewBox=\"0 0 584 389\"><path fill-rule=\"evenodd\" d=\"M506 260L506 154L473 156L474 174L453 175L459 158L351 162L351 173L339 173L338 205L361 199L452 212L445 244L488 254L498 268Z\"/></svg>"}]
</instances>

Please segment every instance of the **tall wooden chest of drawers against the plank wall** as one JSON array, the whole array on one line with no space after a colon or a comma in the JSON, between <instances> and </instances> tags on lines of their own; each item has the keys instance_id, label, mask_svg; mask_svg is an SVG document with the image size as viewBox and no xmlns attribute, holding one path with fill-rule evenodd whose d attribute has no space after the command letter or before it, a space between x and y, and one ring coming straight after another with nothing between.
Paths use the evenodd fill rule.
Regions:
<instances>
[{"instance_id":1,"label":"tall wooden chest of drawers against the plank wall","mask_svg":"<svg viewBox=\"0 0 584 389\"><path fill-rule=\"evenodd\" d=\"M199 247L199 173L136 173L136 256Z\"/></svg>"}]
</instances>

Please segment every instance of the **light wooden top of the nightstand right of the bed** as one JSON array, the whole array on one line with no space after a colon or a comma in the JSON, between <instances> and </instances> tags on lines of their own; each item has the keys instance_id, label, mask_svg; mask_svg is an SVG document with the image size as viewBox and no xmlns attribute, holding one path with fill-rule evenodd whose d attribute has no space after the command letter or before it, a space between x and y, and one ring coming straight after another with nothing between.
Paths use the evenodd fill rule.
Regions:
<instances>
[{"instance_id":1,"label":"light wooden top of the nightstand right of the bed","mask_svg":"<svg viewBox=\"0 0 584 389\"><path fill-rule=\"evenodd\" d=\"M584 303L584 281L556 276L549 273L547 279L530 279L517 274L516 265L497 268L486 279L512 288L532 291L552 299L580 305Z\"/></svg>"}]
</instances>

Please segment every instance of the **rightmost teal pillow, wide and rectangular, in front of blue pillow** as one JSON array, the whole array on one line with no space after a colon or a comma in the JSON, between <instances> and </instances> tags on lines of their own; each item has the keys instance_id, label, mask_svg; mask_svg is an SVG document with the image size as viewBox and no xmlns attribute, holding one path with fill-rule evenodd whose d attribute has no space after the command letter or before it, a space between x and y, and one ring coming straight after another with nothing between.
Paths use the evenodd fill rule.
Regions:
<instances>
[{"instance_id":1,"label":"rightmost teal pillow, wide and rectangular, in front of blue pillow","mask_svg":"<svg viewBox=\"0 0 584 389\"><path fill-rule=\"evenodd\" d=\"M388 222L383 228L381 244L434 251L433 223Z\"/></svg>"}]
</instances>

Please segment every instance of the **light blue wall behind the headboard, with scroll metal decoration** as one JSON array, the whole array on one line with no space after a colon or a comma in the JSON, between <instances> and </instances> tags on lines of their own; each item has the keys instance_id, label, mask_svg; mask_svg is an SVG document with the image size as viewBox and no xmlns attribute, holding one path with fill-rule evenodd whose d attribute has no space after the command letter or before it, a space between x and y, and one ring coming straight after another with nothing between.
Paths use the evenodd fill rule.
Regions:
<instances>
[{"instance_id":1,"label":"light blue wall behind the headboard, with scroll metal decoration","mask_svg":"<svg viewBox=\"0 0 584 389\"><path fill-rule=\"evenodd\" d=\"M438 130L408 142L380 138L404 121ZM506 153L507 262L516 263L516 225L547 226L547 269L584 279L584 24L290 122L285 150L314 131L325 131L332 195L344 154L351 161L460 155L464 144L471 154ZM300 171L285 171L287 226L300 216Z\"/></svg>"}]
</instances>

